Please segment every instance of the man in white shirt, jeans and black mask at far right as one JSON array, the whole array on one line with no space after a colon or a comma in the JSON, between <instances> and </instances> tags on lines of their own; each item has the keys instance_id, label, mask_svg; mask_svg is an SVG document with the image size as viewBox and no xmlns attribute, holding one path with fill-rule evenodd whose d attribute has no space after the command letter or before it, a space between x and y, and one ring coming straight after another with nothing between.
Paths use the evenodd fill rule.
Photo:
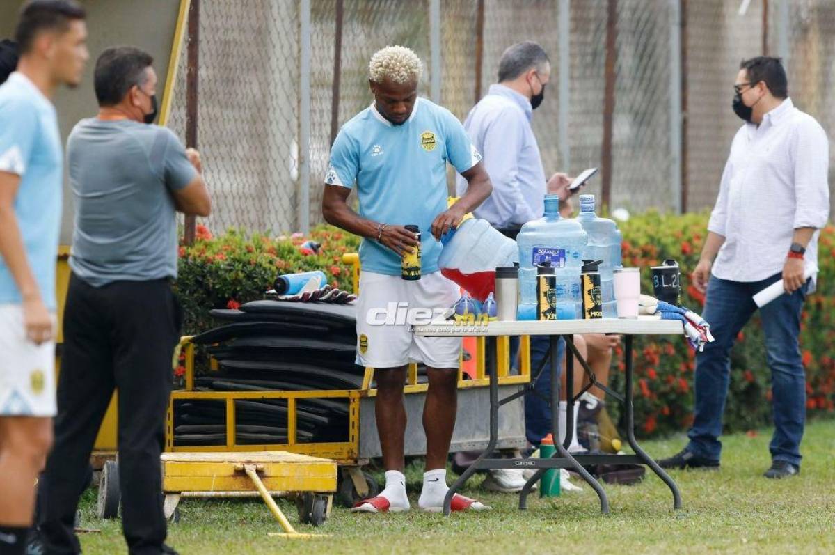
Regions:
<instances>
[{"instance_id":1,"label":"man in white shirt, jeans and black mask at far right","mask_svg":"<svg viewBox=\"0 0 835 555\"><path fill-rule=\"evenodd\" d=\"M716 341L696 356L690 443L660 465L719 466L728 354L757 310L751 296L782 279L786 294L760 308L775 427L769 446L772 467L765 476L782 478L800 472L806 376L798 335L803 302L817 276L818 230L829 215L829 146L817 121L788 98L780 59L754 58L740 68L733 109L746 123L731 143L693 272L696 288L707 292L703 314Z\"/></svg>"}]
</instances>

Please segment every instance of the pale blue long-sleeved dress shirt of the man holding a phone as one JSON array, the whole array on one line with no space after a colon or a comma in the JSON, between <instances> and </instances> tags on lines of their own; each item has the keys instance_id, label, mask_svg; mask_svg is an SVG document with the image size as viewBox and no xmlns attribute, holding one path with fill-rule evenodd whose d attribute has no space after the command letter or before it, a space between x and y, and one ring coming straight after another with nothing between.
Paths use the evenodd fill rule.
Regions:
<instances>
[{"instance_id":1,"label":"pale blue long-sleeved dress shirt of the man holding a phone","mask_svg":"<svg viewBox=\"0 0 835 555\"><path fill-rule=\"evenodd\" d=\"M530 125L532 115L529 99L503 84L492 84L464 121L493 184L493 194L474 214L493 227L514 227L542 217L545 172ZM461 176L456 189L458 196L467 190Z\"/></svg>"}]
</instances>

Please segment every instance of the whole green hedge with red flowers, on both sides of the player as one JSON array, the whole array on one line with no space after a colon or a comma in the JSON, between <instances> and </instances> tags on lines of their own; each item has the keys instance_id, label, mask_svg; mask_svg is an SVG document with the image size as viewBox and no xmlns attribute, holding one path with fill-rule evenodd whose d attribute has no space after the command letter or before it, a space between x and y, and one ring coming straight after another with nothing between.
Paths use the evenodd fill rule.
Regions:
<instances>
[{"instance_id":1,"label":"whole green hedge with red flowers, on both sides of the player","mask_svg":"<svg viewBox=\"0 0 835 555\"><path fill-rule=\"evenodd\" d=\"M624 265L649 268L675 258L682 272L685 306L701 312L704 299L686 277L696 267L706 235L707 214L665 216L649 212L621 224ZM309 237L249 235L230 230L212 237L198 226L198 239L180 247L177 288L185 308L185 331L199 333L215 325L210 308L235 308L264 298L279 272L320 269L335 286L351 290L351 269L342 254L357 252L359 240L333 227L316 227ZM321 251L302 248L306 240L321 243ZM827 227L820 242L821 273L818 292L811 296L802 316L801 347L807 369L809 415L835 412L835 360L829 345L835 339L835 228ZM650 272L641 272L642 290L652 291ZM635 339L635 414L641 435L667 434L685 429L692 418L694 354L682 338ZM726 429L752 430L770 422L770 371L765 360L762 328L757 317L741 332L731 353L731 391L726 408ZM622 355L622 353L618 353ZM611 382L623 388L624 364L615 357ZM612 405L615 405L614 403ZM615 409L615 406L613 406ZM616 410L615 410L616 411Z\"/></svg>"}]
</instances>

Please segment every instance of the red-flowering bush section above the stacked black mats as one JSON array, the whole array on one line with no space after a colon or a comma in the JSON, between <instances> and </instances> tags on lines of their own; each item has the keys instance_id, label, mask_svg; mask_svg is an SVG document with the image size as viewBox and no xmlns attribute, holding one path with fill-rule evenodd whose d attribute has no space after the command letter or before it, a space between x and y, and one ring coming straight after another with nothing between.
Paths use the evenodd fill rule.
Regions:
<instances>
[{"instance_id":1,"label":"red-flowering bush section above the stacked black mats","mask_svg":"<svg viewBox=\"0 0 835 555\"><path fill-rule=\"evenodd\" d=\"M211 308L239 308L265 298L280 273L321 270L331 285L352 290L352 274L342 265L342 254L357 252L359 239L349 233L316 227L309 236L267 237L230 229L215 237L202 225L196 231L194 244L181 245L179 252L176 288L185 313L185 334L214 327ZM302 247L307 241L319 243L319 251Z\"/></svg>"}]
</instances>

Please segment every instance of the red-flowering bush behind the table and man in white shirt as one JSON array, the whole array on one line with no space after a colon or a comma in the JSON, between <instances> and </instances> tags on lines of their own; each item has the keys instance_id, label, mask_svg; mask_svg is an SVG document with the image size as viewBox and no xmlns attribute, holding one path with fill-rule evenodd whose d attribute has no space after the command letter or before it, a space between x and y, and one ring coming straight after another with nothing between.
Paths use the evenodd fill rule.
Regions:
<instances>
[{"instance_id":1,"label":"red-flowering bush behind the table and man in white shirt","mask_svg":"<svg viewBox=\"0 0 835 555\"><path fill-rule=\"evenodd\" d=\"M674 258L681 267L681 302L696 313L705 297L691 283L707 236L708 214L664 216L657 212L633 216L620 223L623 263L641 268L641 292L652 294L650 266ZM800 336L807 373L807 414L835 414L835 227L823 230L819 243L821 272L817 293L807 298ZM731 350L731 384L725 410L727 431L744 431L771 423L771 370L765 339L755 314ZM611 382L623 389L623 349L613 361ZM637 336L634 349L635 422L641 435L662 435L691 425L696 357L686 340L665 336ZM616 403L610 406L616 411Z\"/></svg>"}]
</instances>

